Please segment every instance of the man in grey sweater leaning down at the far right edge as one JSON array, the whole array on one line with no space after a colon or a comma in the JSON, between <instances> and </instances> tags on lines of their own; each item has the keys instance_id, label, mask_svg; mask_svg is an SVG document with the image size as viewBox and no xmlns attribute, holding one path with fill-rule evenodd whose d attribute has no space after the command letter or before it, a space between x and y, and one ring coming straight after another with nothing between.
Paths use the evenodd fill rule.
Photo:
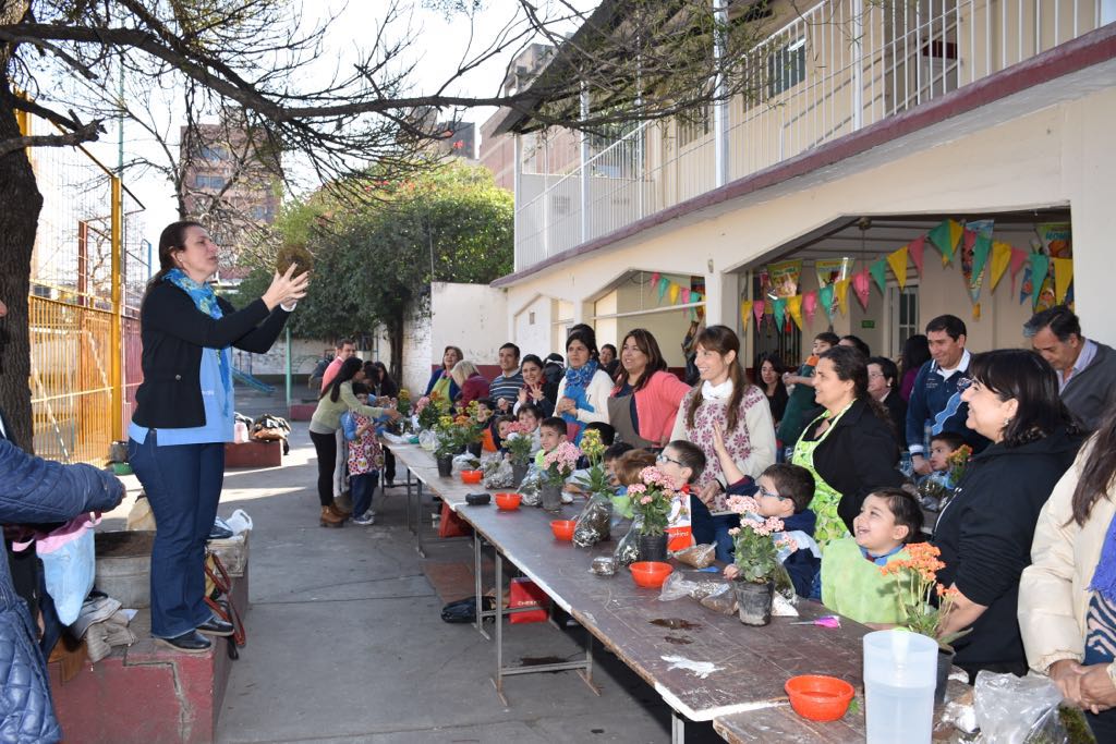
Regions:
<instances>
[{"instance_id":1,"label":"man in grey sweater leaning down at the far right edge","mask_svg":"<svg viewBox=\"0 0 1116 744\"><path fill-rule=\"evenodd\" d=\"M1087 432L1096 431L1116 396L1116 350L1081 336L1081 321L1065 305L1035 313L1023 336L1058 374L1061 402Z\"/></svg>"}]
</instances>

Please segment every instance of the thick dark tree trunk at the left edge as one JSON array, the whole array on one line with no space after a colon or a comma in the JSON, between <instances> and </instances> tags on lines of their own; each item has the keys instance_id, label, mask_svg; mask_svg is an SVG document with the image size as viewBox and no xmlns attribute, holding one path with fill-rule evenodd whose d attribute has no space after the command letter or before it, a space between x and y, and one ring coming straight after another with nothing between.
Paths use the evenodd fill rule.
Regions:
<instances>
[{"instance_id":1,"label":"thick dark tree trunk at the left edge","mask_svg":"<svg viewBox=\"0 0 1116 744\"><path fill-rule=\"evenodd\" d=\"M0 75L0 141L20 136L11 97L7 76ZM11 439L31 452L27 296L42 195L23 149L0 156L0 300L8 306L8 316L0 320L0 407L11 425Z\"/></svg>"}]
</instances>

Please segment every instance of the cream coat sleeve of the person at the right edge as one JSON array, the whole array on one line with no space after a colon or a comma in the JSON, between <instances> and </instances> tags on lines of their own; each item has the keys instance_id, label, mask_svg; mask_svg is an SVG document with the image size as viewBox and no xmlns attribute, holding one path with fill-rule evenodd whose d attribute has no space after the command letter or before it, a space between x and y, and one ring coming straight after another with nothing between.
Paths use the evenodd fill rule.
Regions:
<instances>
[{"instance_id":1,"label":"cream coat sleeve of the person at the right edge","mask_svg":"<svg viewBox=\"0 0 1116 744\"><path fill-rule=\"evenodd\" d=\"M1028 665L1041 674L1049 674L1052 665L1065 659L1080 661L1085 650L1074 613L1074 543L1081 529L1072 520L1072 500L1088 450L1083 447L1077 462L1061 476L1039 512L1031 541L1031 564L1023 569L1019 580L1019 630ZM1105 503L1098 501L1094 511L1103 509Z\"/></svg>"}]
</instances>

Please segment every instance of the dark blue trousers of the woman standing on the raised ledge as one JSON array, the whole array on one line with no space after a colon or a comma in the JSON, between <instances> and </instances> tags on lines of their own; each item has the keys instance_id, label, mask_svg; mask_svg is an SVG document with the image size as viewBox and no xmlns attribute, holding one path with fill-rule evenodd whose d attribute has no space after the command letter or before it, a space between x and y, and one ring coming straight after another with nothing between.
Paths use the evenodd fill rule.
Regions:
<instances>
[{"instance_id":1,"label":"dark blue trousers of the woman standing on the raised ledge","mask_svg":"<svg viewBox=\"0 0 1116 744\"><path fill-rule=\"evenodd\" d=\"M155 514L151 635L173 638L212 617L205 603L205 542L224 481L224 443L161 447L157 432L128 439L128 461Z\"/></svg>"}]
</instances>

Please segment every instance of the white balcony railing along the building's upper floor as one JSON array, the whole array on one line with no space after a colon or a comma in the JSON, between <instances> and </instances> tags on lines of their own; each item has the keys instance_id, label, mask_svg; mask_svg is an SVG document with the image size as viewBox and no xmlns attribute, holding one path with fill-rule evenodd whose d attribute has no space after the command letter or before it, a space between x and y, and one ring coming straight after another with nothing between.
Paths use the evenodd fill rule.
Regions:
<instances>
[{"instance_id":1,"label":"white balcony railing along the building's upper floor","mask_svg":"<svg viewBox=\"0 0 1116 744\"><path fill-rule=\"evenodd\" d=\"M1109 20L1108 2L826 0L749 56L752 96L727 105L725 181L1075 39ZM722 185L712 129L643 124L573 172L521 173L516 270Z\"/></svg>"}]
</instances>

